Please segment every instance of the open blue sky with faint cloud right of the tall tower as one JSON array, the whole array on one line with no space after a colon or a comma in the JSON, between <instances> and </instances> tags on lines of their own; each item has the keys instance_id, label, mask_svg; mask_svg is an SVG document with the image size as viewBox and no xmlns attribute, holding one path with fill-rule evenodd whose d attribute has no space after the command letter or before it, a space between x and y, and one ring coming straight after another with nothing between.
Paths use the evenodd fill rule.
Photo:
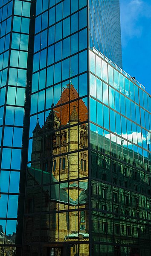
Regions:
<instances>
[{"instance_id":1,"label":"open blue sky with faint cloud right of the tall tower","mask_svg":"<svg viewBox=\"0 0 151 256\"><path fill-rule=\"evenodd\" d=\"M151 0L120 0L123 70L151 94Z\"/></svg>"}]
</instances>

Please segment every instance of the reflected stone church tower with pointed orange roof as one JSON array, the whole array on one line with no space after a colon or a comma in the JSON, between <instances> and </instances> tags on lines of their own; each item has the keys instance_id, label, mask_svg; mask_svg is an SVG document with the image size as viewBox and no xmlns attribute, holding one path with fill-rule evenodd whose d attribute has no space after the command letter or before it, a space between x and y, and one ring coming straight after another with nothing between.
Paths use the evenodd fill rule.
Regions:
<instances>
[{"instance_id":1,"label":"reflected stone church tower with pointed orange roof","mask_svg":"<svg viewBox=\"0 0 151 256\"><path fill-rule=\"evenodd\" d=\"M41 203L38 199L33 204L34 212L39 207L42 207L43 211L50 211L41 219L44 226L41 241L56 242L58 233L62 242L78 241L79 234L81 241L89 241L88 212L84 210L88 205L88 182L85 179L88 177L88 151L85 150L88 147L85 123L87 106L82 99L78 100L78 97L74 85L67 85L63 88L58 103L55 106L52 104L44 126L40 127L37 120L33 130L32 163L28 168L28 179L35 179L39 185L38 177L43 173L43 182L52 183L50 189L49 186L43 186ZM77 180L78 178L81 180ZM30 193L27 195L27 208L31 196ZM73 212L58 212L67 209ZM76 209L78 211L75 211ZM33 230L36 230L37 221L38 219ZM25 226L28 230L28 223ZM34 234L36 237L36 231ZM89 255L88 245L81 245L81 250L85 255ZM71 256L73 255L74 249L73 254L71 253Z\"/></svg>"}]
</instances>

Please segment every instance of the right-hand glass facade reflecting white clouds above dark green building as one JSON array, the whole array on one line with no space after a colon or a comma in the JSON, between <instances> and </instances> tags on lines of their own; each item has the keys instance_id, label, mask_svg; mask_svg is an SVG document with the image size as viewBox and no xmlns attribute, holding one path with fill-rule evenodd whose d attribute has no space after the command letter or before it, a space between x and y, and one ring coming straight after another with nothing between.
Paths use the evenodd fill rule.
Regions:
<instances>
[{"instance_id":1,"label":"right-hand glass facade reflecting white clouds above dark green building","mask_svg":"<svg viewBox=\"0 0 151 256\"><path fill-rule=\"evenodd\" d=\"M150 255L150 100L90 50L92 255Z\"/></svg>"}]
</instances>

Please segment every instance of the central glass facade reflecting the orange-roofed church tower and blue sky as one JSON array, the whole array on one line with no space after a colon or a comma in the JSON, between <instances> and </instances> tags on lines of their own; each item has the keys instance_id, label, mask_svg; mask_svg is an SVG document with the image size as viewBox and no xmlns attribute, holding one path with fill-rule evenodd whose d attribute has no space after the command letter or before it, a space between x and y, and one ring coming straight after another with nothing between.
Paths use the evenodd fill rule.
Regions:
<instances>
[{"instance_id":1,"label":"central glass facade reflecting the orange-roofed church tower and blue sky","mask_svg":"<svg viewBox=\"0 0 151 256\"><path fill-rule=\"evenodd\" d=\"M87 1L37 0L22 255L89 255Z\"/></svg>"}]
</instances>

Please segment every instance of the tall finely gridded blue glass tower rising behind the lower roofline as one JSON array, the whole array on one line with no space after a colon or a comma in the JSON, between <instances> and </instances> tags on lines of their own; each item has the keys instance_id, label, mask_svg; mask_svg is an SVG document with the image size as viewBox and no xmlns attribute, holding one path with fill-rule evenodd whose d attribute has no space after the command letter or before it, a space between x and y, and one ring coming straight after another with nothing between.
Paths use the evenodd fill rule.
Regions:
<instances>
[{"instance_id":1,"label":"tall finely gridded blue glass tower rising behind the lower roofline","mask_svg":"<svg viewBox=\"0 0 151 256\"><path fill-rule=\"evenodd\" d=\"M119 0L89 0L89 40L90 47L122 68Z\"/></svg>"}]
</instances>

